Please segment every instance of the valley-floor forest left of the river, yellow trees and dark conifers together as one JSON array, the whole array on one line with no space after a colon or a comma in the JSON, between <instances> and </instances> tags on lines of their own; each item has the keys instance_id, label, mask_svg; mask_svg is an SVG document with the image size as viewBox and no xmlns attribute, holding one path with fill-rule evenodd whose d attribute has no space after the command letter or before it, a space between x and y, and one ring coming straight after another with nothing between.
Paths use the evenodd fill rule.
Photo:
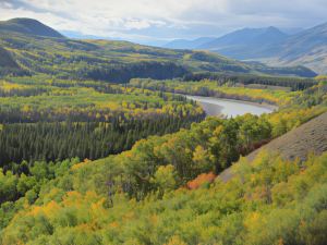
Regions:
<instances>
[{"instance_id":1,"label":"valley-floor forest left of the river, yellow trees and dark conifers together","mask_svg":"<svg viewBox=\"0 0 327 245\"><path fill-rule=\"evenodd\" d=\"M0 81L0 166L98 159L204 119L179 95L45 76Z\"/></svg>"}]
</instances>

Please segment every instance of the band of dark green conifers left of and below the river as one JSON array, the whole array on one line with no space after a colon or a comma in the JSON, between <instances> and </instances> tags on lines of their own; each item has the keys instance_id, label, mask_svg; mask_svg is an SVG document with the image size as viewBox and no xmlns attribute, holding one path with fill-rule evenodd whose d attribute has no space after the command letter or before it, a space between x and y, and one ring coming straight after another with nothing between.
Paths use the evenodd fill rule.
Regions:
<instances>
[{"instance_id":1,"label":"band of dark green conifers left of and below the river","mask_svg":"<svg viewBox=\"0 0 327 245\"><path fill-rule=\"evenodd\" d=\"M128 150L149 135L190 127L202 117L167 117L110 122L38 122L5 124L0 131L0 162L55 161L78 157L98 159Z\"/></svg>"}]
</instances>

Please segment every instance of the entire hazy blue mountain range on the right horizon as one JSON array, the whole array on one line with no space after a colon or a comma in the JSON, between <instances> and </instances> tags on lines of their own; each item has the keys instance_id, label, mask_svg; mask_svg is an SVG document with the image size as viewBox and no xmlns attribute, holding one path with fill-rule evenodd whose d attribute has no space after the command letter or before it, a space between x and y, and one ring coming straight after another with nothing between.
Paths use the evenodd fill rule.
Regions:
<instances>
[{"instance_id":1,"label":"entire hazy blue mountain range on the right horizon","mask_svg":"<svg viewBox=\"0 0 327 245\"><path fill-rule=\"evenodd\" d=\"M187 49L190 44L195 44L195 40L183 42L178 39L178 46L173 47L174 41L171 41L165 47ZM210 50L232 59L261 61L269 65L305 65L327 74L327 23L292 35L274 26L244 28L192 49Z\"/></svg>"}]
</instances>

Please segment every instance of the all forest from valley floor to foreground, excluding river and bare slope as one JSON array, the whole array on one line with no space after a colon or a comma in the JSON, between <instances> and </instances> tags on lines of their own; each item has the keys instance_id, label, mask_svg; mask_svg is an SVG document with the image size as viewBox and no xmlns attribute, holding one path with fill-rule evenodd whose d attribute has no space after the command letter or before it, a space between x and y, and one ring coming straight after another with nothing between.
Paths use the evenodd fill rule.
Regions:
<instances>
[{"instance_id":1,"label":"all forest from valley floor to foreground, excluding river and bare slope","mask_svg":"<svg viewBox=\"0 0 327 245\"><path fill-rule=\"evenodd\" d=\"M219 83L3 79L1 243L323 245L326 154L245 156L326 112L325 78L301 89ZM204 119L180 94L279 109Z\"/></svg>"}]
</instances>

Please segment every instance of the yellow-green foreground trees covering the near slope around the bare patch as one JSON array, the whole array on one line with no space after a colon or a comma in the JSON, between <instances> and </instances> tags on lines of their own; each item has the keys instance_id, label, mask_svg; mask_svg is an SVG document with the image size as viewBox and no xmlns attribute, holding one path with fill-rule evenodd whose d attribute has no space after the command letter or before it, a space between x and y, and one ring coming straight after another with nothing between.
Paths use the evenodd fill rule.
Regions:
<instances>
[{"instance_id":1,"label":"yellow-green foreground trees covering the near slope around the bare patch","mask_svg":"<svg viewBox=\"0 0 327 245\"><path fill-rule=\"evenodd\" d=\"M326 154L299 162L261 151L252 164L242 156L326 112L325 89L298 93L272 114L207 118L97 161L7 171L2 243L324 244ZM221 183L216 175L231 164L235 177Z\"/></svg>"}]
</instances>

